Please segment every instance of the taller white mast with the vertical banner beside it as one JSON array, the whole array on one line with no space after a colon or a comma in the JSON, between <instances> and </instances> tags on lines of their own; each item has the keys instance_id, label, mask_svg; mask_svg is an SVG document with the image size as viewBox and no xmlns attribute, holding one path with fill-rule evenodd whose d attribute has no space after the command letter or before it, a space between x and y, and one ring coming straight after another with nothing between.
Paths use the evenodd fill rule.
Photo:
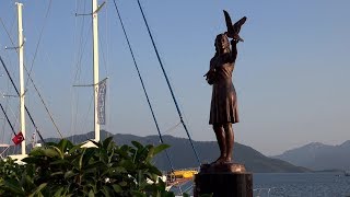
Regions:
<instances>
[{"instance_id":1,"label":"taller white mast with the vertical banner beside it","mask_svg":"<svg viewBox=\"0 0 350 197\"><path fill-rule=\"evenodd\" d=\"M100 141L100 124L97 118L98 94L98 18L97 0L92 0L92 35L93 35L93 74L94 74L94 130L95 141Z\"/></svg>"}]
</instances>

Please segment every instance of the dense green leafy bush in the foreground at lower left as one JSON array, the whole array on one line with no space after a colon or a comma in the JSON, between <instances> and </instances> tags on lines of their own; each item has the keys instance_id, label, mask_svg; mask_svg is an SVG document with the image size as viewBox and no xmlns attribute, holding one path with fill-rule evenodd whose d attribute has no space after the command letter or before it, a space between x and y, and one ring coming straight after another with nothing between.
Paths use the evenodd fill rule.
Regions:
<instances>
[{"instance_id":1,"label":"dense green leafy bush in the foreground at lower left","mask_svg":"<svg viewBox=\"0 0 350 197\"><path fill-rule=\"evenodd\" d=\"M24 165L0 161L0 196L174 196L152 164L168 146L118 147L113 138L93 143L81 148L63 139L33 149Z\"/></svg>"}]
</instances>

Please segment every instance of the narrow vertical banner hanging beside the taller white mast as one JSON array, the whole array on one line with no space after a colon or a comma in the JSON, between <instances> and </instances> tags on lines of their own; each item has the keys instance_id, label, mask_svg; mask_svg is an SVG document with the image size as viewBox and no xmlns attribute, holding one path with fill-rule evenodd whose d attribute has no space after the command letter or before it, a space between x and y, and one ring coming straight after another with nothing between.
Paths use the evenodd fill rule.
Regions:
<instances>
[{"instance_id":1,"label":"narrow vertical banner hanging beside the taller white mast","mask_svg":"<svg viewBox=\"0 0 350 197\"><path fill-rule=\"evenodd\" d=\"M100 125L106 124L106 111L105 111L105 102L106 102L106 81L107 78L102 80L98 83L98 93L97 93L97 119Z\"/></svg>"}]
</instances>

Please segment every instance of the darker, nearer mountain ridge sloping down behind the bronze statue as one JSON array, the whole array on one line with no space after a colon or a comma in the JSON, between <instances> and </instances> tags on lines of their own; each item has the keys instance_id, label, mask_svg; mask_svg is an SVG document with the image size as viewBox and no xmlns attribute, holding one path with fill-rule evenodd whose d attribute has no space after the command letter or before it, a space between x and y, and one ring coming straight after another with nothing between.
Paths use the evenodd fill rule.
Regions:
<instances>
[{"instance_id":1,"label":"darker, nearer mountain ridge sloping down behind the bronze statue","mask_svg":"<svg viewBox=\"0 0 350 197\"><path fill-rule=\"evenodd\" d=\"M147 136L147 137L138 137L133 135L113 135L107 131L101 131L101 139L105 139L106 137L113 136L114 140L117 144L131 144L131 141L139 141L142 144L159 144L160 138L159 136ZM68 137L70 141L74 143L86 141L88 139L94 138L93 132L89 132L86 135L75 135ZM173 136L163 136L163 140L165 143L170 144L171 148L167 149L170 159L173 163L174 169L186 169L186 167L196 167L198 166L198 162L196 155L191 149L188 139L185 138L176 138ZM59 141L57 138L49 138L45 140L48 141ZM219 157L219 147L217 141L194 141L194 146L199 154L199 158L202 163L210 163L214 161ZM288 162L271 159L265 157L260 152L254 150L250 147L234 143L234 162L242 163L246 166L249 172L259 172L259 173L270 173L270 172L307 172L307 169L294 166ZM170 162L166 158L165 152L160 153L155 160L155 165L163 170L171 170Z\"/></svg>"}]
</instances>

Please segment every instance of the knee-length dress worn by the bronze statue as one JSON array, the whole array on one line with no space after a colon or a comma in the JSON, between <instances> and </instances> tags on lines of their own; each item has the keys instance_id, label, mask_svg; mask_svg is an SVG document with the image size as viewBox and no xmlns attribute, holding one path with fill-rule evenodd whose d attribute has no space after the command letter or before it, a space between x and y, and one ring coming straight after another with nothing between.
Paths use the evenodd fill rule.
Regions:
<instances>
[{"instance_id":1,"label":"knee-length dress worn by the bronze statue","mask_svg":"<svg viewBox=\"0 0 350 197\"><path fill-rule=\"evenodd\" d=\"M209 124L238 123L236 91L232 83L234 60L230 54L214 56L210 68L215 69L215 82L212 85Z\"/></svg>"}]
</instances>

